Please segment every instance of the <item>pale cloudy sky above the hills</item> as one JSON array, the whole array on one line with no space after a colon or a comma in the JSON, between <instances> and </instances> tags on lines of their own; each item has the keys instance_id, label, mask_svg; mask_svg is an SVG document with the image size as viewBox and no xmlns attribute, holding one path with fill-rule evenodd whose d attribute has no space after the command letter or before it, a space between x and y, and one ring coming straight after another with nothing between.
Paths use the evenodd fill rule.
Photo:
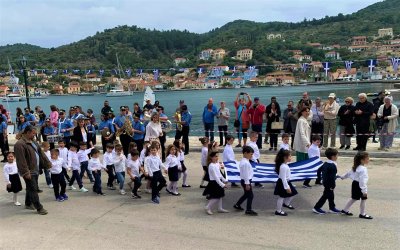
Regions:
<instances>
[{"instance_id":1,"label":"pale cloudy sky above the hills","mask_svg":"<svg viewBox=\"0 0 400 250\"><path fill-rule=\"evenodd\" d=\"M302 21L377 0L0 0L0 45L57 47L118 25L203 33L227 22Z\"/></svg>"}]
</instances>

